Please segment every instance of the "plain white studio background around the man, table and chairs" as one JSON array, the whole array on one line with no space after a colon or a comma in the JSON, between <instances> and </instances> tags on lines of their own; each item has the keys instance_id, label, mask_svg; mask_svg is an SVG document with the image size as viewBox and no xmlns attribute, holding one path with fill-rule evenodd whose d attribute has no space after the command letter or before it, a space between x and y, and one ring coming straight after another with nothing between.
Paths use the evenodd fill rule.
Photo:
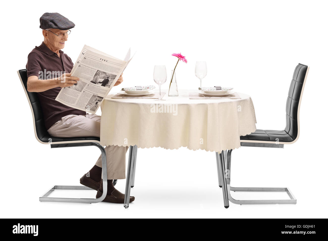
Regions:
<instances>
[{"instance_id":1,"label":"plain white studio background around the man, table and chairs","mask_svg":"<svg viewBox=\"0 0 328 241\"><path fill-rule=\"evenodd\" d=\"M327 4L323 1L49 1L6 2L1 13L2 217L327 217ZM84 6L84 4L86 4ZM297 205L223 207L215 154L139 149L135 201L125 210L110 203L39 202L53 185L79 185L99 155L95 147L50 149L36 141L31 110L16 70L43 41L39 18L59 12L76 27L65 49L75 62L84 44L118 58L137 51L122 87L155 85L154 65L168 75L181 52L179 89L196 89L195 62L205 60L203 86L231 86L251 95L258 129L285 128L285 105L294 68L310 67L300 112L300 138L284 149L242 147L232 152L232 186L289 187ZM169 87L169 81L163 89ZM99 111L98 114L101 114ZM163 127L165 128L165 127ZM127 154L128 156L128 154ZM124 192L125 180L116 188ZM275 193L274 193L275 194ZM276 193L277 194L277 193ZM56 195L56 193L54 193ZM59 196L94 197L95 191ZM256 193L232 193L261 198ZM267 193L264 198L274 198ZM278 194L278 198L287 195Z\"/></svg>"}]
</instances>

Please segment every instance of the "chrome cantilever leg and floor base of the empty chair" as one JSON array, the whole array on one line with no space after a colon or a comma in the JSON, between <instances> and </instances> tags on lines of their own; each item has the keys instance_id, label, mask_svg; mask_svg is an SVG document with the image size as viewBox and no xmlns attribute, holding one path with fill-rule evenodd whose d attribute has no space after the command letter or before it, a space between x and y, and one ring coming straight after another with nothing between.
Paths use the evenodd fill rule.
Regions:
<instances>
[{"instance_id":1,"label":"chrome cantilever leg and floor base of the empty chair","mask_svg":"<svg viewBox=\"0 0 328 241\"><path fill-rule=\"evenodd\" d=\"M227 154L227 188L229 200L235 204L296 204L297 200L289 188L235 188L230 187L230 174L231 174L231 152ZM230 195L230 191L285 191L290 199L273 199L273 200L236 200Z\"/></svg>"}]
</instances>

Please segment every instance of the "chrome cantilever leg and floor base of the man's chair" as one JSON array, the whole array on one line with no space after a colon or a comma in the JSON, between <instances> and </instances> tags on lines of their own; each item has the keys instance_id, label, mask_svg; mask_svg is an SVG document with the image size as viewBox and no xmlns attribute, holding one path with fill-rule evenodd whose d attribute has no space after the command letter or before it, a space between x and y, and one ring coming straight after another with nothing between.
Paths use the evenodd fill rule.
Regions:
<instances>
[{"instance_id":1,"label":"chrome cantilever leg and floor base of the man's chair","mask_svg":"<svg viewBox=\"0 0 328 241\"><path fill-rule=\"evenodd\" d=\"M107 177L107 163L106 163L106 152L105 149L96 142L86 143L69 143L69 144L51 144L51 148L59 147L78 147L78 146L96 146L101 151L101 164L102 174ZM99 203L105 199L107 194L107 178L103 179L103 194L99 198L60 198L60 197L48 197L49 194L54 190L93 190L85 186L53 186L49 191L39 197L40 202L69 202L69 203Z\"/></svg>"}]
</instances>

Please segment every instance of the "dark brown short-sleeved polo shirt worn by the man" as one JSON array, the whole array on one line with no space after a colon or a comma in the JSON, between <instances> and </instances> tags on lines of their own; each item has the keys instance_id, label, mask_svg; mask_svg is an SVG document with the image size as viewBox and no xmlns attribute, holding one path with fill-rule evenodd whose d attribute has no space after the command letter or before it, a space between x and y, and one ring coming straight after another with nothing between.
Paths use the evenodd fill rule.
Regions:
<instances>
[{"instance_id":1,"label":"dark brown short-sleeved polo shirt worn by the man","mask_svg":"<svg viewBox=\"0 0 328 241\"><path fill-rule=\"evenodd\" d=\"M59 55L58 57L58 55L52 52L43 42L39 47L35 46L29 53L27 59L27 77L35 75L38 76L39 79L51 79L60 77L64 71L65 73L70 73L73 68L71 58L62 50L59 50ZM37 92L47 130L66 115L86 114L85 111L76 110L56 101L55 98L60 90L60 87L56 87L43 92Z\"/></svg>"}]
</instances>

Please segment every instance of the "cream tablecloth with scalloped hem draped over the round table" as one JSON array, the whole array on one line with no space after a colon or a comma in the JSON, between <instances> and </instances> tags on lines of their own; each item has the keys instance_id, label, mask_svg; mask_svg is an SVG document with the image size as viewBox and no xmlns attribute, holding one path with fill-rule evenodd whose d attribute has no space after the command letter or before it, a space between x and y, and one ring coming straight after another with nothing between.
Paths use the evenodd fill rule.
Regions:
<instances>
[{"instance_id":1,"label":"cream tablecloth with scalloped hem draped over the round table","mask_svg":"<svg viewBox=\"0 0 328 241\"><path fill-rule=\"evenodd\" d=\"M189 99L191 91L179 90L178 97L166 94L165 101L112 99L115 93L108 95L102 103L101 144L221 152L239 148L239 136L256 130L249 95L238 93L241 99Z\"/></svg>"}]
</instances>

